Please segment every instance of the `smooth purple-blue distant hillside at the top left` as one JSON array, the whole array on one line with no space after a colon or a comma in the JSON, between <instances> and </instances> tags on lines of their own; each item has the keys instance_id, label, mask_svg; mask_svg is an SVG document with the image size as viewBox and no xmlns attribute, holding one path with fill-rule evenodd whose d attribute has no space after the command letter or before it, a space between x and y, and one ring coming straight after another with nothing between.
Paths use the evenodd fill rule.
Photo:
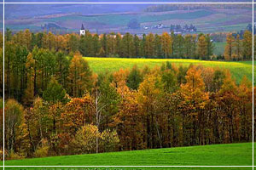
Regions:
<instances>
[{"instance_id":1,"label":"smooth purple-blue distant hillside at the top left","mask_svg":"<svg viewBox=\"0 0 256 170\"><path fill-rule=\"evenodd\" d=\"M6 4L6 19L27 19L49 14L108 14L142 12L152 4Z\"/></svg>"}]
</instances>

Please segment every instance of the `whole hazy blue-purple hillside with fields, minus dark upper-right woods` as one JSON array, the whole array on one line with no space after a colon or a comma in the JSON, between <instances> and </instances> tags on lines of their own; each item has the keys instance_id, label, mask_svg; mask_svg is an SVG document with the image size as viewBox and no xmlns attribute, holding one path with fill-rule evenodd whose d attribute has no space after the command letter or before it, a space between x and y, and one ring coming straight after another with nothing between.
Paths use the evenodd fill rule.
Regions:
<instances>
[{"instance_id":1,"label":"whole hazy blue-purple hillside with fields, minus dark upper-right woods","mask_svg":"<svg viewBox=\"0 0 256 170\"><path fill-rule=\"evenodd\" d=\"M170 31L168 26L193 24L198 31L240 31L252 23L251 8L197 8L174 11L145 12L152 4L7 4L6 27L20 31L26 28L32 31L44 31L41 26L53 23L65 28L65 31L79 32L84 23L91 32L131 32L162 33ZM154 7L154 5L153 5ZM35 10L30 10L34 8ZM15 9L15 10L14 10ZM25 13L26 11L26 13ZM129 29L129 21L137 19L139 29ZM161 29L154 26L163 24ZM143 29L147 26L150 29Z\"/></svg>"}]
</instances>

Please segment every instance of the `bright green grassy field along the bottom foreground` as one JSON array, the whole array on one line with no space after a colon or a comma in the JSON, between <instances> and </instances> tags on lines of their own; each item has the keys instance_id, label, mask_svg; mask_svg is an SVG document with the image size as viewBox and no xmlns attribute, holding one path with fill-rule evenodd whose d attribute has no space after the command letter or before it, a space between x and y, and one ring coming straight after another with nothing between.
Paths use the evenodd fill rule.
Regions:
<instances>
[{"instance_id":1,"label":"bright green grassy field along the bottom foreground","mask_svg":"<svg viewBox=\"0 0 256 170\"><path fill-rule=\"evenodd\" d=\"M5 161L6 166L251 166L253 144L212 144ZM126 169L126 168L122 168ZM139 169L148 169L140 167ZM161 168L170 169L170 168ZM213 168L214 169L214 168Z\"/></svg>"}]
</instances>

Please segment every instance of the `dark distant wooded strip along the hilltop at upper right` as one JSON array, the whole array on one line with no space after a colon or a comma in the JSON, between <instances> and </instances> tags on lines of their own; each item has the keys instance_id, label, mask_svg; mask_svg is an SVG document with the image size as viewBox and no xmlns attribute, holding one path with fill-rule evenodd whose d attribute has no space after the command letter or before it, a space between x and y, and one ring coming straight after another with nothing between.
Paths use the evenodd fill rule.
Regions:
<instances>
[{"instance_id":1,"label":"dark distant wooded strip along the hilltop at upper right","mask_svg":"<svg viewBox=\"0 0 256 170\"><path fill-rule=\"evenodd\" d=\"M221 1L220 1L221 2ZM212 3L212 2L211 2ZM145 12L163 12L174 10L193 10L193 9L209 9L209 8L247 8L251 9L251 4L162 4L150 6Z\"/></svg>"}]
</instances>

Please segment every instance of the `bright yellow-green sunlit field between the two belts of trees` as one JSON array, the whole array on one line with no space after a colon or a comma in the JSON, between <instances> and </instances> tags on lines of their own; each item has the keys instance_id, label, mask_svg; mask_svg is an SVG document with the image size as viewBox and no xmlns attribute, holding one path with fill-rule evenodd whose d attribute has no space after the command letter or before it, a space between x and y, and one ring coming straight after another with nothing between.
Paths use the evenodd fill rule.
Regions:
<instances>
[{"instance_id":1,"label":"bright yellow-green sunlit field between the two belts of trees","mask_svg":"<svg viewBox=\"0 0 256 170\"><path fill-rule=\"evenodd\" d=\"M200 59L124 59L124 58L94 58L84 57L92 71L100 73L103 71L119 71L120 68L131 69L133 65L143 68L148 65L153 68L155 65L169 61L176 65L205 65L229 69L236 82L240 82L243 76L253 81L253 61L206 61ZM255 70L255 69L254 69Z\"/></svg>"}]
</instances>

